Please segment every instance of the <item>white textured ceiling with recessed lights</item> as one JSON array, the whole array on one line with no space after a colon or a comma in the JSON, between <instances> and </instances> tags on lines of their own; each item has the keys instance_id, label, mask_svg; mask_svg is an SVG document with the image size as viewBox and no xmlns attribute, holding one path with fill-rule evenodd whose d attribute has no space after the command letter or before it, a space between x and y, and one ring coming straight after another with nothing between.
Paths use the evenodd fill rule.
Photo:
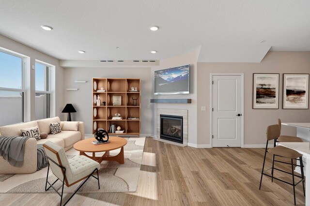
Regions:
<instances>
[{"instance_id":1,"label":"white textured ceiling with recessed lights","mask_svg":"<svg viewBox=\"0 0 310 206\"><path fill-rule=\"evenodd\" d=\"M200 62L310 51L310 0L0 0L0 16L0 34L57 59L164 59L200 45Z\"/></svg>"}]
</instances>

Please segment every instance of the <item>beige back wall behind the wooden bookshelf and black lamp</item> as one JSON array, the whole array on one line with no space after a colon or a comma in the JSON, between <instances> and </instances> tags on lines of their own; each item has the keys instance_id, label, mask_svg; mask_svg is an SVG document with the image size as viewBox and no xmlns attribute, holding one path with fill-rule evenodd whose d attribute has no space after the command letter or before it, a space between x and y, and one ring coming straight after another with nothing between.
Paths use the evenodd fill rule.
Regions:
<instances>
[{"instance_id":1,"label":"beige back wall behind the wooden bookshelf and black lamp","mask_svg":"<svg viewBox=\"0 0 310 206\"><path fill-rule=\"evenodd\" d=\"M78 90L64 92L64 103L72 103L77 113L72 113L73 121L84 121L85 133L91 134L93 126L92 78L140 78L141 79L141 134L151 133L151 99L150 68L65 68L65 88ZM75 83L85 80L87 83ZM66 115L65 115L66 117Z\"/></svg>"}]
</instances>

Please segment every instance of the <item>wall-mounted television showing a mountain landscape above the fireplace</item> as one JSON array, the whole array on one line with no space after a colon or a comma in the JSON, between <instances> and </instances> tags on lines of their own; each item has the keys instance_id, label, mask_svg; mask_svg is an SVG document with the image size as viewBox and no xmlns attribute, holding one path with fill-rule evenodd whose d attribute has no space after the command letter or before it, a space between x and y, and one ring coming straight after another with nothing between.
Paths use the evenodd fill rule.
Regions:
<instances>
[{"instance_id":1,"label":"wall-mounted television showing a mountain landscape above the fireplace","mask_svg":"<svg viewBox=\"0 0 310 206\"><path fill-rule=\"evenodd\" d=\"M189 94L189 64L155 71L154 94Z\"/></svg>"}]
</instances>

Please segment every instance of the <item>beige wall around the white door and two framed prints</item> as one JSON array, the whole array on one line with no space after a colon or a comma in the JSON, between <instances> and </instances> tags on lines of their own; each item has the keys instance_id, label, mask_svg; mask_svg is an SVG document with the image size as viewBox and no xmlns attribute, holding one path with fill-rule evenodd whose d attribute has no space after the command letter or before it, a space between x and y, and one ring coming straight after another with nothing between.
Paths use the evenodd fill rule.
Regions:
<instances>
[{"instance_id":1,"label":"beige wall around the white door and two framed prints","mask_svg":"<svg viewBox=\"0 0 310 206\"><path fill-rule=\"evenodd\" d=\"M263 145L266 127L282 122L310 122L309 109L282 109L283 74L309 74L310 52L268 52L261 63L197 63L198 145L210 144L210 73L244 73L244 144ZM252 109L253 73L279 73L279 109ZM206 111L201 107L206 106ZM295 130L282 127L282 134Z\"/></svg>"}]
</instances>

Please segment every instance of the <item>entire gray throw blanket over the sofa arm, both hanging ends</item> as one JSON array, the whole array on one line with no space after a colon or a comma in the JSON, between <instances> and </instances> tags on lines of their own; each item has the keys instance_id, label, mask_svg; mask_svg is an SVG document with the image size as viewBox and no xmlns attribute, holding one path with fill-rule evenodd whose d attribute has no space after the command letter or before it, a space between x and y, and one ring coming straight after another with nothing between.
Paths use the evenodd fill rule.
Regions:
<instances>
[{"instance_id":1,"label":"entire gray throw blanket over the sofa arm, both hanging ends","mask_svg":"<svg viewBox=\"0 0 310 206\"><path fill-rule=\"evenodd\" d=\"M0 156L12 166L21 167L24 162L24 146L28 138L22 136L0 136ZM42 144L37 145L37 170L47 167L48 160Z\"/></svg>"}]
</instances>

